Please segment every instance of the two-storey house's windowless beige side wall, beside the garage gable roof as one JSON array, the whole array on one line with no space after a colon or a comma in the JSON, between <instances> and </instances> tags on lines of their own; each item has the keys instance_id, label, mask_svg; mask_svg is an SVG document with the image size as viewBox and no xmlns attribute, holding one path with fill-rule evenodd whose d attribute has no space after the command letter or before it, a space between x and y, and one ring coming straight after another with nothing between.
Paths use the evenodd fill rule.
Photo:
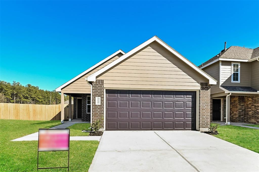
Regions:
<instances>
[{"instance_id":1,"label":"two-storey house's windowless beige side wall, beside the garage gable roof","mask_svg":"<svg viewBox=\"0 0 259 172\"><path fill-rule=\"evenodd\" d=\"M203 68L202 70L218 81L216 85L211 85L211 94L224 92L219 88L219 61Z\"/></svg>"}]
</instances>

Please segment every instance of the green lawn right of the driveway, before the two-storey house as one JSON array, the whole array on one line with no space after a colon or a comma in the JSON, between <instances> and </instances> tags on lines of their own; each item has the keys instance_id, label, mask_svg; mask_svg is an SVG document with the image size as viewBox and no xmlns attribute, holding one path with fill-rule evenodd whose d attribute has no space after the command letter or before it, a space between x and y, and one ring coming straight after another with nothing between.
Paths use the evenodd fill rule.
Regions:
<instances>
[{"instance_id":1,"label":"green lawn right of the driveway, before the two-storey house","mask_svg":"<svg viewBox=\"0 0 259 172\"><path fill-rule=\"evenodd\" d=\"M239 127L239 126L220 126L219 124L211 123L218 126L218 135L213 135L222 140L234 143L251 151L259 153L259 130Z\"/></svg>"}]
</instances>

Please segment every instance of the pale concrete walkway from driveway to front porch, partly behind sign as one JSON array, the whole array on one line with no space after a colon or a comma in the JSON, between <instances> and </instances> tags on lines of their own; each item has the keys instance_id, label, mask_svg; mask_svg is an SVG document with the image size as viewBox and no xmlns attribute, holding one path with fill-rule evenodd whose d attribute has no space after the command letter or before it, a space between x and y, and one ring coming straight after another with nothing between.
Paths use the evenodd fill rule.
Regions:
<instances>
[{"instance_id":1,"label":"pale concrete walkway from driveway to front porch, partly behind sign","mask_svg":"<svg viewBox=\"0 0 259 172\"><path fill-rule=\"evenodd\" d=\"M90 122L82 122L81 120L72 120L72 121L66 121L63 124L59 126L55 126L52 128L57 128L57 129L62 129L62 128L67 128L69 126L72 126L77 123L90 123ZM33 141L33 140L38 140L38 135L39 132L35 132L33 134L29 134L27 136L23 136L17 139L13 139L11 141ZM98 140L100 141L101 136L70 136L70 140Z\"/></svg>"}]
</instances>

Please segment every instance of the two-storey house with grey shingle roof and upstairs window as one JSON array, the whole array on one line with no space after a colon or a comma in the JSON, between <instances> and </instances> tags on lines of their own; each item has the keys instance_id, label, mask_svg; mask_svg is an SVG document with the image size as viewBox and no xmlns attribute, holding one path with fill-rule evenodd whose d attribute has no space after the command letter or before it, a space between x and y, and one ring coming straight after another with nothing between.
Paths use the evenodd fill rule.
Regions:
<instances>
[{"instance_id":1,"label":"two-storey house with grey shingle roof and upstairs window","mask_svg":"<svg viewBox=\"0 0 259 172\"><path fill-rule=\"evenodd\" d=\"M199 67L211 86L211 121L259 124L259 47L231 46ZM227 108L226 108L227 107Z\"/></svg>"}]
</instances>

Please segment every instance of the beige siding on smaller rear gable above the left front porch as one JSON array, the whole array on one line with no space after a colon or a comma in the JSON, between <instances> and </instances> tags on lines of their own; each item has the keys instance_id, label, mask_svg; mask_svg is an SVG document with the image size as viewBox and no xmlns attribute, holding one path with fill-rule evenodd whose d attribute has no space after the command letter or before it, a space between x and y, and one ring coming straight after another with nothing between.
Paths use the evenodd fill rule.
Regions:
<instances>
[{"instance_id":1,"label":"beige siding on smaller rear gable above the left front porch","mask_svg":"<svg viewBox=\"0 0 259 172\"><path fill-rule=\"evenodd\" d=\"M110 64L112 61L116 60L117 58L119 58L122 55L123 55L122 53L117 54L116 56L111 58L109 61L101 64L100 66L93 69L89 73L85 74L84 76L80 77L76 81L74 81L71 84L67 85L66 87L62 88L61 92L64 92L64 93L91 93L91 87L90 87L90 85L87 84L87 81L85 80L85 78L87 78L87 76L95 73L99 69L103 68L104 66Z\"/></svg>"}]
</instances>

